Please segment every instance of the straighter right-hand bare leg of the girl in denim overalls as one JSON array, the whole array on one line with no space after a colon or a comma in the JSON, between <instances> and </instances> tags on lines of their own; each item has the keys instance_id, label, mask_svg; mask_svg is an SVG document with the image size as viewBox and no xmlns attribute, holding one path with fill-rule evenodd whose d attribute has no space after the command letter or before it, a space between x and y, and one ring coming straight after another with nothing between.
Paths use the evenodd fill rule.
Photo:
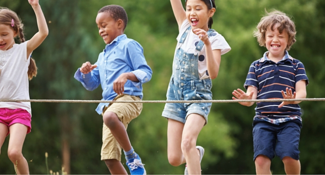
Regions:
<instances>
[{"instance_id":1,"label":"straighter right-hand bare leg of the girl in denim overalls","mask_svg":"<svg viewBox=\"0 0 325 175\"><path fill-rule=\"evenodd\" d=\"M182 136L182 152L186 159L189 175L200 175L201 165L200 157L197 154L196 140L202 130L205 119L198 114L190 114L184 126Z\"/></svg>"}]
</instances>

